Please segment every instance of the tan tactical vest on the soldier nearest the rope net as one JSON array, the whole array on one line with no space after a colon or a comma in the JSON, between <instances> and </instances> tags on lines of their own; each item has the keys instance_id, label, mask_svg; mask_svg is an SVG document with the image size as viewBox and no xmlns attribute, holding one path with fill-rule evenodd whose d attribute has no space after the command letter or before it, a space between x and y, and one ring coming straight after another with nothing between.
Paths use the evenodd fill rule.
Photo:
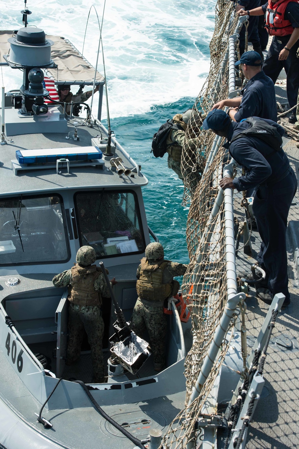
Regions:
<instances>
[{"instance_id":1,"label":"tan tactical vest on the soldier nearest the rope net","mask_svg":"<svg viewBox=\"0 0 299 449\"><path fill-rule=\"evenodd\" d=\"M146 257L141 259L140 277L136 283L139 298L147 301L164 301L172 293L173 284L163 284L163 271L170 260L162 260L150 265Z\"/></svg>"}]
</instances>

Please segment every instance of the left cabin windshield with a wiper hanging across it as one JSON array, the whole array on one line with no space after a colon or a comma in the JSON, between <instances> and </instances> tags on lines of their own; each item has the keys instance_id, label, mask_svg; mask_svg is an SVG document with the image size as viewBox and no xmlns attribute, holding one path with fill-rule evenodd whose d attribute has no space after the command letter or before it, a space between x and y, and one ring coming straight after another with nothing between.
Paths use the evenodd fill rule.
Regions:
<instances>
[{"instance_id":1,"label":"left cabin windshield with a wiper hanging across it","mask_svg":"<svg viewBox=\"0 0 299 449\"><path fill-rule=\"evenodd\" d=\"M62 198L0 199L0 264L51 264L70 259Z\"/></svg>"}]
</instances>

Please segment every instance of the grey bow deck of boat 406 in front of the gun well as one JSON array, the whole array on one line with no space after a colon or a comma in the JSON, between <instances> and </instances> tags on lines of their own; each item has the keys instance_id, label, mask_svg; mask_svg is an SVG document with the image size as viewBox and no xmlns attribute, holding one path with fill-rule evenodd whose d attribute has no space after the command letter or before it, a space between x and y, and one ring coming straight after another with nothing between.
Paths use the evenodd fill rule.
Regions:
<instances>
[{"instance_id":1,"label":"grey bow deck of boat 406 in front of the gun well","mask_svg":"<svg viewBox=\"0 0 299 449\"><path fill-rule=\"evenodd\" d=\"M44 429L42 424L36 422L34 414L39 413L40 403L31 396L2 352L0 375L0 396L4 402L30 427L58 444L71 449L132 449L132 442L108 424L92 406L50 411L44 409L43 417L53 424L52 429ZM135 404L104 406L103 409L134 436L144 439L150 428L163 431L184 406L184 401L185 392L180 392Z\"/></svg>"}]
</instances>

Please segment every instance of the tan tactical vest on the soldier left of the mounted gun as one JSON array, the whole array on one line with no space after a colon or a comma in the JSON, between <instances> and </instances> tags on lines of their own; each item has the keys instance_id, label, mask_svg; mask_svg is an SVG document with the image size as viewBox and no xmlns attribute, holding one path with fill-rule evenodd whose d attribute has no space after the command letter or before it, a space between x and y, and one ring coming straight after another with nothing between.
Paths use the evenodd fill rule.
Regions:
<instances>
[{"instance_id":1,"label":"tan tactical vest on the soldier left of the mounted gun","mask_svg":"<svg viewBox=\"0 0 299 449\"><path fill-rule=\"evenodd\" d=\"M102 303L101 293L95 291L94 282L100 276L101 270L92 265L80 267L75 264L71 268L73 284L70 288L69 301L80 306L96 306Z\"/></svg>"}]
</instances>

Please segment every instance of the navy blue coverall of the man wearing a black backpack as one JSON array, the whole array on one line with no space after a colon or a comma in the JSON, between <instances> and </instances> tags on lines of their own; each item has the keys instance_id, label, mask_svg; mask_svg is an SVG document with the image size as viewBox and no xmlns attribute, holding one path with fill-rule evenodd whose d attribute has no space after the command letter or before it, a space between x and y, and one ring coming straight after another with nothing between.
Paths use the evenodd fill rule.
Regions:
<instances>
[{"instance_id":1,"label":"navy blue coverall of the man wearing a black backpack","mask_svg":"<svg viewBox=\"0 0 299 449\"><path fill-rule=\"evenodd\" d=\"M265 120L284 134L284 129ZM248 128L247 122L231 123L228 142ZM275 295L283 293L290 299L288 290L286 227L291 202L297 190L297 178L283 150L273 148L255 136L240 137L231 145L226 143L232 157L245 168L245 175L235 178L237 191L256 188L253 213L262 239L257 260L268 273L268 289ZM274 152L275 151L275 152Z\"/></svg>"}]
</instances>

